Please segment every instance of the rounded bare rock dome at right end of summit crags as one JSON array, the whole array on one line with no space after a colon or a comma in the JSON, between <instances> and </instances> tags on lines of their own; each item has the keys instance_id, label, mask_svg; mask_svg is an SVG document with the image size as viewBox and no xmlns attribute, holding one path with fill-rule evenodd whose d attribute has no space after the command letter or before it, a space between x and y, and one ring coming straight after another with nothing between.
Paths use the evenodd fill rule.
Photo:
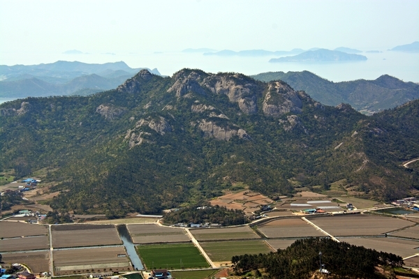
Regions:
<instances>
[{"instance_id":1,"label":"rounded bare rock dome at right end of summit crags","mask_svg":"<svg viewBox=\"0 0 419 279\"><path fill-rule=\"evenodd\" d=\"M279 117L292 112L302 112L302 100L288 84L284 82L270 82L263 100L263 113L265 115Z\"/></svg>"}]
</instances>

